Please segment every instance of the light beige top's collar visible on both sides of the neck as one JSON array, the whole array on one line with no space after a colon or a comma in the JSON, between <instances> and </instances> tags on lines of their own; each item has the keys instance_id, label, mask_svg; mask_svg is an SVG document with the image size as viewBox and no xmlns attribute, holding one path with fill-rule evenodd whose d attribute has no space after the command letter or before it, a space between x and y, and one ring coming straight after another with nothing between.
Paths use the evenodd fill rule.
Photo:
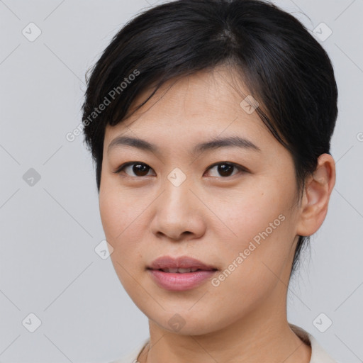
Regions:
<instances>
[{"instance_id":1,"label":"light beige top's collar visible on both sides of the neck","mask_svg":"<svg viewBox=\"0 0 363 363\"><path fill-rule=\"evenodd\" d=\"M298 337L300 337L303 342L308 343L308 345L311 345L311 359L310 363L337 363L330 355L323 350L323 347L318 343L318 340L313 337L310 333L308 333L306 330L303 330L303 328L298 327L294 324L289 324L291 330L294 331ZM138 358L138 355L143 350L145 345L149 342L149 337L147 339L144 339L142 342L138 344L137 347L133 349L132 352L125 355L121 359L114 360L110 363L136 363L138 362L136 359Z\"/></svg>"}]
</instances>

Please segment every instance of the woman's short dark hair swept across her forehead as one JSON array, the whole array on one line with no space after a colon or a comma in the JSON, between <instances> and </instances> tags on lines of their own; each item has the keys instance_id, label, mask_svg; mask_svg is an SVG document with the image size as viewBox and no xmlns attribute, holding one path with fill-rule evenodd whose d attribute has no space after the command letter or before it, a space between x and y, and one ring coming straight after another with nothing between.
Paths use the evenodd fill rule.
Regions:
<instances>
[{"instance_id":1,"label":"woman's short dark hair swept across her forehead","mask_svg":"<svg viewBox=\"0 0 363 363\"><path fill-rule=\"evenodd\" d=\"M228 65L259 102L256 111L294 159L298 201L318 156L330 154L337 85L327 52L294 16L263 0L177 0L125 24L86 75L84 141L96 163L106 125L128 115L135 97L169 79ZM104 104L104 111L95 112ZM93 117L94 116L94 117ZM310 236L299 236L291 274Z\"/></svg>"}]
</instances>

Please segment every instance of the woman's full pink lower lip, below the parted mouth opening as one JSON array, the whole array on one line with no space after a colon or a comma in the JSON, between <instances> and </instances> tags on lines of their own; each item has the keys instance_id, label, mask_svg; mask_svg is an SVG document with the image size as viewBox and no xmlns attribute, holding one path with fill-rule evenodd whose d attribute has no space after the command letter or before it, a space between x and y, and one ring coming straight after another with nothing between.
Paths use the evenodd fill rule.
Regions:
<instances>
[{"instance_id":1,"label":"woman's full pink lower lip, below the parted mouth opening","mask_svg":"<svg viewBox=\"0 0 363 363\"><path fill-rule=\"evenodd\" d=\"M147 269L147 271L160 287L173 291L194 289L216 273L216 270L199 270L184 274L163 272L158 269Z\"/></svg>"}]
</instances>

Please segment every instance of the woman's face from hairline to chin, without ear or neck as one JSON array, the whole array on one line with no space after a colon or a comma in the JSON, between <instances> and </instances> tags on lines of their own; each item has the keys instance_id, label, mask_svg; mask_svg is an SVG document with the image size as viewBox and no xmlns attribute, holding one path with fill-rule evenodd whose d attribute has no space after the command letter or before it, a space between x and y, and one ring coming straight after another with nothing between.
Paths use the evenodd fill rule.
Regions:
<instances>
[{"instance_id":1,"label":"woman's face from hairline to chin, without ear or neck","mask_svg":"<svg viewBox=\"0 0 363 363\"><path fill-rule=\"evenodd\" d=\"M285 313L298 239L294 164L234 79L218 69L169 82L106 128L99 204L113 266L140 310L171 332L199 335L247 317L266 320L272 309ZM155 150L113 142L121 136ZM256 147L235 139L196 149L225 138ZM126 162L135 164L116 173ZM176 280L168 288L147 269L161 256L217 270L202 272L207 278L194 286Z\"/></svg>"}]
</instances>

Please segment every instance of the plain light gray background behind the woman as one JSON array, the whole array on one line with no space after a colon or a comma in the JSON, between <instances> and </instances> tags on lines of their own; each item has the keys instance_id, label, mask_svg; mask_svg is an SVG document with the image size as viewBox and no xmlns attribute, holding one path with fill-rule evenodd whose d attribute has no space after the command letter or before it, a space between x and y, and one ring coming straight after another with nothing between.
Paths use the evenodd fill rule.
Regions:
<instances>
[{"instance_id":1,"label":"plain light gray background behind the woman","mask_svg":"<svg viewBox=\"0 0 363 363\"><path fill-rule=\"evenodd\" d=\"M363 1L275 3L311 31L321 22L333 31L322 45L339 88L337 182L291 282L288 318L339 362L362 362ZM81 121L86 69L153 4L0 0L1 362L109 362L149 335L111 259L94 250L104 233L91 157L83 136L65 135ZM42 32L33 42L22 33L30 22ZM30 168L40 174L33 186L23 179ZM22 323L30 313L41 321L34 333L34 319ZM313 323L320 313L333 321L325 333Z\"/></svg>"}]
</instances>

